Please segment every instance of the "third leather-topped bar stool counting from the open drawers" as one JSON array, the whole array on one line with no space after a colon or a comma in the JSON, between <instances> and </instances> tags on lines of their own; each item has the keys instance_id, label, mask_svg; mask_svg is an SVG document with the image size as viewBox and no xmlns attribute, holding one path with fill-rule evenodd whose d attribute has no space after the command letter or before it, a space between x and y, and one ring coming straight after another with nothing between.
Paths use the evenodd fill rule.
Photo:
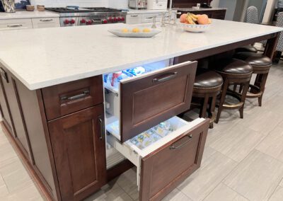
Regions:
<instances>
[{"instance_id":1,"label":"third leather-topped bar stool counting from the open drawers","mask_svg":"<svg viewBox=\"0 0 283 201\"><path fill-rule=\"evenodd\" d=\"M238 52L234 55L234 57L250 64L250 66L253 67L253 74L257 74L255 83L250 84L250 93L248 93L246 97L258 98L258 105L261 106L267 76L270 71L270 67L272 66L271 59L262 54L255 54L252 52Z\"/></svg>"}]
</instances>

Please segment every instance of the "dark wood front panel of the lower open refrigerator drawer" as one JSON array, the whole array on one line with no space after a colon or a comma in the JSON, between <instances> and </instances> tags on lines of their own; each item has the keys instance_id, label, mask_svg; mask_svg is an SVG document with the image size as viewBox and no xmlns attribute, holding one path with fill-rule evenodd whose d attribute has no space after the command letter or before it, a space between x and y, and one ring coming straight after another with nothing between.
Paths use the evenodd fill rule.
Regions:
<instances>
[{"instance_id":1,"label":"dark wood front panel of the lower open refrigerator drawer","mask_svg":"<svg viewBox=\"0 0 283 201\"><path fill-rule=\"evenodd\" d=\"M139 200L161 200L200 167L209 120L141 159Z\"/></svg>"}]
</instances>

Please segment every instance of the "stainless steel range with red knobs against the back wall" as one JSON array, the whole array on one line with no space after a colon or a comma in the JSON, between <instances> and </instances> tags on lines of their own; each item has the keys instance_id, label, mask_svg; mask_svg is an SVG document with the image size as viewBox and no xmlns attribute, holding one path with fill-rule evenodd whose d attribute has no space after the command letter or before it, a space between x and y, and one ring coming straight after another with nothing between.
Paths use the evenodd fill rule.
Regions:
<instances>
[{"instance_id":1,"label":"stainless steel range with red knobs against the back wall","mask_svg":"<svg viewBox=\"0 0 283 201\"><path fill-rule=\"evenodd\" d=\"M45 8L59 13L60 26L125 23L127 12L105 7L93 8Z\"/></svg>"}]
</instances>

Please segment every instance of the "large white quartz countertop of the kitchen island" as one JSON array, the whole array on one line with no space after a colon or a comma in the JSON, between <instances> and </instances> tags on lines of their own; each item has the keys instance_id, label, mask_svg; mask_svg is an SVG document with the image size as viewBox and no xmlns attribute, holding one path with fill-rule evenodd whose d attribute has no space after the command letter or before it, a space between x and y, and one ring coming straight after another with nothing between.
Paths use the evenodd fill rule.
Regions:
<instances>
[{"instance_id":1,"label":"large white quartz countertop of the kitchen island","mask_svg":"<svg viewBox=\"0 0 283 201\"><path fill-rule=\"evenodd\" d=\"M171 25L160 28L162 32L154 38L118 38L108 32L129 26L120 23L1 31L0 62L34 90L283 30L213 20L206 33L188 33Z\"/></svg>"}]
</instances>

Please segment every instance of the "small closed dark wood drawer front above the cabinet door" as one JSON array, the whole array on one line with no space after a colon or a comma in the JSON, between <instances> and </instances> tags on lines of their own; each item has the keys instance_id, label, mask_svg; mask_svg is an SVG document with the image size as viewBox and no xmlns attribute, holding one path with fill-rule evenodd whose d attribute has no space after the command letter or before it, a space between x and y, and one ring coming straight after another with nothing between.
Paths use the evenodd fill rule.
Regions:
<instances>
[{"instance_id":1,"label":"small closed dark wood drawer front above the cabinet door","mask_svg":"<svg viewBox=\"0 0 283 201\"><path fill-rule=\"evenodd\" d=\"M42 89L47 120L103 103L102 76Z\"/></svg>"}]
</instances>

